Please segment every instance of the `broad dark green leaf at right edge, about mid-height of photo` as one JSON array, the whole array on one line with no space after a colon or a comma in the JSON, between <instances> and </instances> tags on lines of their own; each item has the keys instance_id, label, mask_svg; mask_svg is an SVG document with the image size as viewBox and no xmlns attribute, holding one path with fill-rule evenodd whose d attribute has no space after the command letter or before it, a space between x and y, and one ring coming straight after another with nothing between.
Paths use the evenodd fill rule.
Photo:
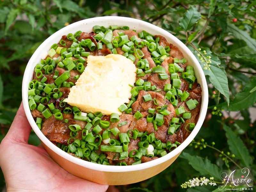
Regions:
<instances>
[{"instance_id":1,"label":"broad dark green leaf at right edge, about mid-height of photo","mask_svg":"<svg viewBox=\"0 0 256 192\"><path fill-rule=\"evenodd\" d=\"M221 103L220 106L223 106L222 109L228 111L240 111L246 108L253 106L256 102L256 92L252 91L256 86L256 78L252 78L251 81L245 84L243 91L238 92L235 96L235 99L230 101L229 106L227 103Z\"/></svg>"}]
</instances>

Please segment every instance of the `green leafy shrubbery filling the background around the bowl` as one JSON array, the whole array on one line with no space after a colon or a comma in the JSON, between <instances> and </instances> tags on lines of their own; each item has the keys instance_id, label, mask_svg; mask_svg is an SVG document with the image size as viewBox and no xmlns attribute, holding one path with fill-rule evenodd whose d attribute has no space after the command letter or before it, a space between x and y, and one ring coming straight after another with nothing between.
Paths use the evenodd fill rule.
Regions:
<instances>
[{"instance_id":1,"label":"green leafy shrubbery filling the background around the bowl","mask_svg":"<svg viewBox=\"0 0 256 192\"><path fill-rule=\"evenodd\" d=\"M251 0L0 1L0 141L20 105L27 62L48 36L86 18L133 17L164 28L194 52L209 84L209 110L195 141L170 167L149 180L117 188L208 192L217 187L180 185L203 176L221 182L221 172L243 167L250 169L255 184L255 10ZM39 143L34 133L29 142Z\"/></svg>"}]
</instances>

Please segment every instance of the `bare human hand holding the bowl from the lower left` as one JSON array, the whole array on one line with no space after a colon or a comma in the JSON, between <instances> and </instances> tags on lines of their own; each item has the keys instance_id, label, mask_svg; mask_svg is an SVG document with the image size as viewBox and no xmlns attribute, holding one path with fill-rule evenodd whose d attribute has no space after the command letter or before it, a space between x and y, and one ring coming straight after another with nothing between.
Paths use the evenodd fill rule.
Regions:
<instances>
[{"instance_id":1,"label":"bare human hand holding the bowl from the lower left","mask_svg":"<svg viewBox=\"0 0 256 192\"><path fill-rule=\"evenodd\" d=\"M106 191L100 185L78 178L56 164L42 147L28 144L31 126L23 104L0 144L0 167L7 191Z\"/></svg>"}]
</instances>

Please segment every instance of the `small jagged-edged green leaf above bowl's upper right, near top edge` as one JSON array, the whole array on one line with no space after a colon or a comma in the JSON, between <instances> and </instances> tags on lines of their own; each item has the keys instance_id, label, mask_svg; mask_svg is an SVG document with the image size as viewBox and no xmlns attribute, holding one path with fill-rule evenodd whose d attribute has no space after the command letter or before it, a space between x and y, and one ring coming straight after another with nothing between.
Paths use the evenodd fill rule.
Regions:
<instances>
[{"instance_id":1,"label":"small jagged-edged green leaf above bowl's upper right, near top edge","mask_svg":"<svg viewBox=\"0 0 256 192\"><path fill-rule=\"evenodd\" d=\"M180 18L179 24L184 31L190 31L200 19L201 13L197 11L195 6L191 6L183 17Z\"/></svg>"}]
</instances>

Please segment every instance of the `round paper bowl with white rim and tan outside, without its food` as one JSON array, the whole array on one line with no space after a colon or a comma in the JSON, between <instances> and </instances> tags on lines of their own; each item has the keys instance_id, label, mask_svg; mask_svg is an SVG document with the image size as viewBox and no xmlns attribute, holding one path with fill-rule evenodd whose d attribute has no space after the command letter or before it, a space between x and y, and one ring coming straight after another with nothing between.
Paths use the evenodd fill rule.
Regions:
<instances>
[{"instance_id":1,"label":"round paper bowl with white rim and tan outside, without its food","mask_svg":"<svg viewBox=\"0 0 256 192\"><path fill-rule=\"evenodd\" d=\"M41 59L44 59L44 57L47 55L46 52L50 49L52 44L58 43L60 41L62 35L67 35L68 33L75 33L78 30L81 30L82 32L91 32L94 25L100 25L105 27L108 27L109 25L129 26L130 29L136 29L137 32L146 30L153 35L162 35L167 39L169 43L177 46L183 53L183 56L187 59L189 65L194 67L197 82L202 87L202 105L198 122L188 138L183 143L181 143L178 148L174 149L167 155L147 163L131 166L109 166L95 164L84 161L82 159L78 159L62 151L60 148L52 144L51 141L48 140L37 127L28 105L28 83L33 77L33 71L36 64L39 63ZM49 153L52 159L54 159L61 167L63 167L65 170L72 173L73 175L96 183L108 185L124 185L146 180L158 174L159 172L162 172L170 164L172 164L172 162L180 155L181 151L185 147L187 147L188 144L195 138L196 134L198 133L204 122L204 118L206 115L206 110L208 106L208 88L204 72L196 57L187 48L187 46L175 36L165 31L164 29L147 23L145 21L126 17L108 16L78 21L60 29L52 36L48 37L36 49L35 53L28 61L28 65L26 67L22 82L22 100L26 116L30 125L32 126L36 135L41 140L46 151Z\"/></svg>"}]
</instances>

